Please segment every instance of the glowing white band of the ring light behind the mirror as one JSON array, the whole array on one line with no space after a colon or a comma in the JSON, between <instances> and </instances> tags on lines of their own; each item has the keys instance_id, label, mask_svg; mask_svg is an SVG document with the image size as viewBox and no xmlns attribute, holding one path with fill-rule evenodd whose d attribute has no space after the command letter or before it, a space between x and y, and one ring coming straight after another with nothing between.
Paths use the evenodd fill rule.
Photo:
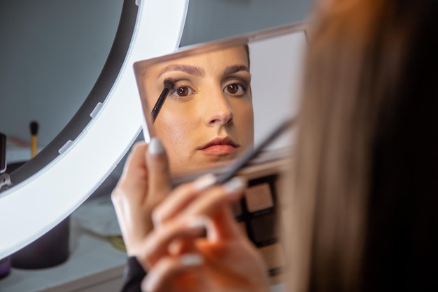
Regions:
<instances>
[{"instance_id":1,"label":"glowing white band of the ring light behind the mirror","mask_svg":"<svg viewBox=\"0 0 438 292\"><path fill-rule=\"evenodd\" d=\"M101 111L64 153L1 194L0 258L71 214L125 155L143 121L132 64L178 48L187 8L188 0L141 1L127 57Z\"/></svg>"}]
</instances>

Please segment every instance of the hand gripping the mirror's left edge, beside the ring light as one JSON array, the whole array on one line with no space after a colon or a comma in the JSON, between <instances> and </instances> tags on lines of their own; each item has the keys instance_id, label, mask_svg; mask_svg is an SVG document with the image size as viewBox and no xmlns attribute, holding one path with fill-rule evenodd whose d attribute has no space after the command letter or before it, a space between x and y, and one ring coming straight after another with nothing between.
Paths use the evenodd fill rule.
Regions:
<instances>
[{"instance_id":1,"label":"hand gripping the mirror's left edge, beside the ring light","mask_svg":"<svg viewBox=\"0 0 438 292\"><path fill-rule=\"evenodd\" d=\"M137 256L153 229L153 208L169 194L167 155L158 139L134 145L122 176L111 194L129 256Z\"/></svg>"}]
</instances>

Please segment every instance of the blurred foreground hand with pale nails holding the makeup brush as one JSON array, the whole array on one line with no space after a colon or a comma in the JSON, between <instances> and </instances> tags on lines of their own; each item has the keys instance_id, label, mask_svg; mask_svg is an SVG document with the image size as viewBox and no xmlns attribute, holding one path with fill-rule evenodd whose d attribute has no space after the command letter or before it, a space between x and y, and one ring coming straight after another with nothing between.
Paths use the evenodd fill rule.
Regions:
<instances>
[{"instance_id":1,"label":"blurred foreground hand with pale nails holding the makeup brush","mask_svg":"<svg viewBox=\"0 0 438 292\"><path fill-rule=\"evenodd\" d=\"M269 291L267 268L229 207L246 183L213 183L204 176L180 186L153 212L155 228L138 257L148 267L143 291Z\"/></svg>"}]
</instances>

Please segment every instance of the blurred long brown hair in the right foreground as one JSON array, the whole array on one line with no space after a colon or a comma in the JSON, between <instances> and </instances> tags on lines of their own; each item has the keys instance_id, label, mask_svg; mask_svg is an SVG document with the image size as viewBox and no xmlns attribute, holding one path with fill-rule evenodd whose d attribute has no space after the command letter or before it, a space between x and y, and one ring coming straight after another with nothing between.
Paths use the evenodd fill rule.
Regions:
<instances>
[{"instance_id":1,"label":"blurred long brown hair in the right foreground","mask_svg":"<svg viewBox=\"0 0 438 292\"><path fill-rule=\"evenodd\" d=\"M436 288L438 1L320 1L310 26L292 291Z\"/></svg>"}]
</instances>

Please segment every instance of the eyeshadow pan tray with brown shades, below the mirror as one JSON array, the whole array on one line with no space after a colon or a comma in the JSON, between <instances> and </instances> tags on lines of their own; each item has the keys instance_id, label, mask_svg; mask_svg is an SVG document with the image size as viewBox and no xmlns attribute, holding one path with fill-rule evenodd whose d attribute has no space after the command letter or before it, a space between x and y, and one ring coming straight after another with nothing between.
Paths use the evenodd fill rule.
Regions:
<instances>
[{"instance_id":1,"label":"eyeshadow pan tray with brown shades, below the mirror","mask_svg":"<svg viewBox=\"0 0 438 292\"><path fill-rule=\"evenodd\" d=\"M250 165L237 173L248 180L248 188L240 202L232 205L232 211L244 235L250 239L267 265L271 283L283 281L285 253L279 239L282 219L286 208L283 190L283 174L288 172L291 148L264 151L251 160ZM225 169L209 169L210 173L222 174ZM174 186L191 181L201 174L176 177ZM281 200L280 200L281 199Z\"/></svg>"}]
</instances>

